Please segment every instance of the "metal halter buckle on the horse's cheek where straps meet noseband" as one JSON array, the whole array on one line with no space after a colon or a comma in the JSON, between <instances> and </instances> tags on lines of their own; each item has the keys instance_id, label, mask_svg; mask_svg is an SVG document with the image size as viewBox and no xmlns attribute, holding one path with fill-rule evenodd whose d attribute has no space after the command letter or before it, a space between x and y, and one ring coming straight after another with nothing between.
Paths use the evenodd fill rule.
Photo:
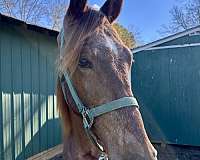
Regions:
<instances>
[{"instance_id":1,"label":"metal halter buckle on the horse's cheek where straps meet noseband","mask_svg":"<svg viewBox=\"0 0 200 160\"><path fill-rule=\"evenodd\" d=\"M94 118L91 117L89 113L90 113L90 110L86 108L84 108L83 111L81 112L82 117L83 117L83 125L84 125L84 128L86 129L90 129L94 121Z\"/></svg>"}]
</instances>

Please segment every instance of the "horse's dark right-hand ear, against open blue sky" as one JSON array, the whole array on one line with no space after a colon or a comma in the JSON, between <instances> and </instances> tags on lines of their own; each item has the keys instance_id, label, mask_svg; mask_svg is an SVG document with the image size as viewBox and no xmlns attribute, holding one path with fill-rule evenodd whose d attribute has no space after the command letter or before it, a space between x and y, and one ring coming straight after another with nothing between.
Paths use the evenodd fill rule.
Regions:
<instances>
[{"instance_id":1,"label":"horse's dark right-hand ear, against open blue sky","mask_svg":"<svg viewBox=\"0 0 200 160\"><path fill-rule=\"evenodd\" d=\"M107 0L101 7L100 11L103 12L112 23L120 14L123 0Z\"/></svg>"}]
</instances>

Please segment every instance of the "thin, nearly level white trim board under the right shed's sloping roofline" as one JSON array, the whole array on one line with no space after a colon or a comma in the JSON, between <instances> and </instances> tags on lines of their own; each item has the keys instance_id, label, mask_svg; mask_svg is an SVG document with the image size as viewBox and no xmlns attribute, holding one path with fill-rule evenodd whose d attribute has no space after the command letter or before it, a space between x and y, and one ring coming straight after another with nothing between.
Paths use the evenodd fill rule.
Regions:
<instances>
[{"instance_id":1,"label":"thin, nearly level white trim board under the right shed's sloping roofline","mask_svg":"<svg viewBox=\"0 0 200 160\"><path fill-rule=\"evenodd\" d=\"M197 46L200 46L200 43L183 44L183 45L171 45L171 46L162 46L162 47L152 47L152 48L145 49L145 51L159 50L159 49L173 49L173 48L197 47Z\"/></svg>"}]
</instances>

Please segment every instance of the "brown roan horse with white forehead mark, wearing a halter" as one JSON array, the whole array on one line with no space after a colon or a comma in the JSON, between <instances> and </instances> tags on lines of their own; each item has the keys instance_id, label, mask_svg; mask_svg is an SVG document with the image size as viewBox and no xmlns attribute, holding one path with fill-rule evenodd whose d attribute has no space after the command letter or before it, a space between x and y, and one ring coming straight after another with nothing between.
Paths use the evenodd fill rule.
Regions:
<instances>
[{"instance_id":1,"label":"brown roan horse with white forehead mark, wearing a halter","mask_svg":"<svg viewBox=\"0 0 200 160\"><path fill-rule=\"evenodd\" d=\"M107 0L97 10L90 7L87 0L71 0L57 37L58 74L68 73L80 101L90 109L133 97L129 76L133 56L112 25L122 4L123 0ZM137 104L105 113L96 117L92 126L86 126L96 144L103 148L105 155L101 158L101 147L91 142L83 126L83 117L74 107L73 98L68 96L69 84L65 84L63 90L62 79L58 77L56 92L63 126L64 159L157 159Z\"/></svg>"}]
</instances>

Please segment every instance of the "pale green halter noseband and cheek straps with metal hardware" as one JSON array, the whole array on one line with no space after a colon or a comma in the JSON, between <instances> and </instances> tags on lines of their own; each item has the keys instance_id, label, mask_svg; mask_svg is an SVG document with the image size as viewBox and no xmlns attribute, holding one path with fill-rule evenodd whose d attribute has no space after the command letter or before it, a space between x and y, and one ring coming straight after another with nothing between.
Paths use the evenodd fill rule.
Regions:
<instances>
[{"instance_id":1,"label":"pale green halter noseband and cheek straps with metal hardware","mask_svg":"<svg viewBox=\"0 0 200 160\"><path fill-rule=\"evenodd\" d=\"M64 73L60 77L60 82L62 86L62 92L64 94L64 98L66 103L69 106L72 106L74 110L78 112L82 116L83 119L83 127L87 136L94 143L94 145L100 150L100 156L98 160L108 160L108 156L105 153L103 147L99 144L97 138L91 131L91 127L93 125L94 119L108 112L112 112L117 109L135 106L139 107L137 100L134 97L123 97L107 104L103 104L96 107L86 107L83 105L75 88L73 87L72 81L68 73Z\"/></svg>"}]
</instances>

